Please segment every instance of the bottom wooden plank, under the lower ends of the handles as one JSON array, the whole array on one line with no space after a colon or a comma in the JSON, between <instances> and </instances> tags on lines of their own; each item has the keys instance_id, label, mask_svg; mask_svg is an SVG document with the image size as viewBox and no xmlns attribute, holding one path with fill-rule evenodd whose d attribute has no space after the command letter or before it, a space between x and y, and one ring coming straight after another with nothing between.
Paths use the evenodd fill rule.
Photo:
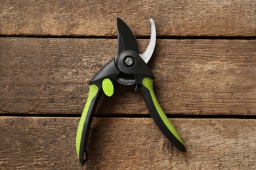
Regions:
<instances>
[{"instance_id":1,"label":"bottom wooden plank, under the lower ends of the handles","mask_svg":"<svg viewBox=\"0 0 256 170\"><path fill-rule=\"evenodd\" d=\"M78 118L0 117L0 166L78 169ZM181 153L151 118L95 118L85 169L255 169L256 120L173 119Z\"/></svg>"}]
</instances>

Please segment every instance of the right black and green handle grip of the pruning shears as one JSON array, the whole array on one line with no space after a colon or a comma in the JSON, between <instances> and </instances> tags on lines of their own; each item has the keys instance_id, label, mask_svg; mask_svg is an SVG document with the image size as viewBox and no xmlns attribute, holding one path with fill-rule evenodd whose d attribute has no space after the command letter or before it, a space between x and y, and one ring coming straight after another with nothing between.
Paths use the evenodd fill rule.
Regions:
<instances>
[{"instance_id":1,"label":"right black and green handle grip of the pruning shears","mask_svg":"<svg viewBox=\"0 0 256 170\"><path fill-rule=\"evenodd\" d=\"M181 137L177 133L175 127L173 127L171 122L168 120L167 116L161 109L158 100L156 99L153 82L154 80L152 78L143 78L142 86L140 88L140 91L144 95L144 100L148 110L156 122L156 125L160 128L165 137L167 137L167 139L169 139L169 141L173 143L173 145L176 146L179 150L186 152L186 148L183 141L181 140Z\"/></svg>"}]
</instances>

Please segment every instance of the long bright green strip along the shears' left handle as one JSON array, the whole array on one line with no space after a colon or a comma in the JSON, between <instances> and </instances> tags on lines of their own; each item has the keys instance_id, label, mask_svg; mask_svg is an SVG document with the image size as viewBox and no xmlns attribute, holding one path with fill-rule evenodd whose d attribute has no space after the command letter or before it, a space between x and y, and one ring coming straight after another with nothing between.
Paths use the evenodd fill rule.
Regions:
<instances>
[{"instance_id":1,"label":"long bright green strip along the shears' left handle","mask_svg":"<svg viewBox=\"0 0 256 170\"><path fill-rule=\"evenodd\" d=\"M75 147L76 147L76 153L77 153L78 158L79 158L81 137L82 137L82 133L83 133L83 126L85 124L85 118L87 116L87 112L91 105L91 101L93 100L93 97L95 97L97 92L98 92L98 87L95 84L89 86L89 95L87 97L85 108L83 109L83 113L80 118L80 122L79 122L79 125L77 128L77 133L76 133L76 139L75 139Z\"/></svg>"}]
</instances>

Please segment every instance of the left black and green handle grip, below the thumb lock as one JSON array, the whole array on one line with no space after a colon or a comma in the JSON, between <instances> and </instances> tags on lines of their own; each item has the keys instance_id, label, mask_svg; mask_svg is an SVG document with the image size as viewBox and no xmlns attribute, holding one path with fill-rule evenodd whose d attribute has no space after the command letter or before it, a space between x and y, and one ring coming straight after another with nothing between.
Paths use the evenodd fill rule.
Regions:
<instances>
[{"instance_id":1,"label":"left black and green handle grip, below the thumb lock","mask_svg":"<svg viewBox=\"0 0 256 170\"><path fill-rule=\"evenodd\" d=\"M81 165L84 165L89 158L87 152L87 141L89 137L91 122L93 120L93 114L95 113L95 109L98 105L98 100L100 98L101 93L101 85L96 86L95 84L91 84L89 86L89 95L87 97L87 101L79 121L75 139L77 157ZM84 158L84 153L86 158Z\"/></svg>"}]
</instances>

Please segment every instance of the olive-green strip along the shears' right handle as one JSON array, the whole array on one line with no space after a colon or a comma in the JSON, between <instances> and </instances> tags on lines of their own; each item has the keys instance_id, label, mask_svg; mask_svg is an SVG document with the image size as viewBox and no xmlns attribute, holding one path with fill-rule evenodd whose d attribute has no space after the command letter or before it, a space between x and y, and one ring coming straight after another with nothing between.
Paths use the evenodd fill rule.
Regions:
<instances>
[{"instance_id":1,"label":"olive-green strip along the shears' right handle","mask_svg":"<svg viewBox=\"0 0 256 170\"><path fill-rule=\"evenodd\" d=\"M154 80L152 80L151 78L144 78L142 80L142 84L150 91L151 98L156 107L156 110L158 110L158 114L160 115L161 120L163 120L163 123L165 124L165 126L167 126L169 131L171 131L171 133L173 133L173 135L182 144L184 144L183 141L181 140L181 137L179 136L178 132L176 131L175 127L173 127L173 125L171 124L171 122L167 118L166 114L163 112L163 110L161 109L161 107L159 105L158 100L156 99L156 95L154 93L153 82L154 82Z\"/></svg>"}]
</instances>

